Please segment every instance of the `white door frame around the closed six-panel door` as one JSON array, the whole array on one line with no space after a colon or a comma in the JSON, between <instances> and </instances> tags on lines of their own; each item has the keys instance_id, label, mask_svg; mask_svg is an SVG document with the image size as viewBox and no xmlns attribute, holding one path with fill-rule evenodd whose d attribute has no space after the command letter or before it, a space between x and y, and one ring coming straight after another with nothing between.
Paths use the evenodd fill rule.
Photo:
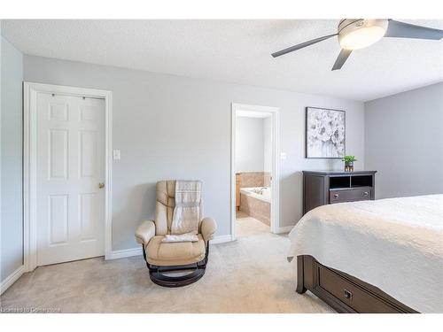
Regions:
<instances>
[{"instance_id":1,"label":"white door frame around the closed six-panel door","mask_svg":"<svg viewBox=\"0 0 443 332\"><path fill-rule=\"evenodd\" d=\"M105 259L112 251L112 128L113 93L106 90L84 89L23 83L23 259L25 271L37 266L37 93L105 99Z\"/></svg>"}]
</instances>

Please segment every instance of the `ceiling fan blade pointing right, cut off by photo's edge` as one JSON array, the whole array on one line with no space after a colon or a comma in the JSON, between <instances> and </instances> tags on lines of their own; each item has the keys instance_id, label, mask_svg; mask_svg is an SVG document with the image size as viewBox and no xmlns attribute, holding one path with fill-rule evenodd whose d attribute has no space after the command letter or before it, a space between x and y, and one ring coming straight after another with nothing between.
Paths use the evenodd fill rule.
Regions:
<instances>
[{"instance_id":1,"label":"ceiling fan blade pointing right, cut off by photo's edge","mask_svg":"<svg viewBox=\"0 0 443 332\"><path fill-rule=\"evenodd\" d=\"M385 37L439 40L443 38L443 30L416 26L390 19Z\"/></svg>"}]
</instances>

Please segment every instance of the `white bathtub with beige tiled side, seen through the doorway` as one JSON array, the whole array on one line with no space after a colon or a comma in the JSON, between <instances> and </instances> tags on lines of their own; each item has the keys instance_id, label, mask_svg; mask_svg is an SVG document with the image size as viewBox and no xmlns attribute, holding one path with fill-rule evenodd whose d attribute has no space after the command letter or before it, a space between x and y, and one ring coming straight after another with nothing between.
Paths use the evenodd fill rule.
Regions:
<instances>
[{"instance_id":1,"label":"white bathtub with beige tiled side, seen through the doorway","mask_svg":"<svg viewBox=\"0 0 443 332\"><path fill-rule=\"evenodd\" d=\"M269 187L241 188L240 211L269 226L271 219L271 189Z\"/></svg>"}]
</instances>

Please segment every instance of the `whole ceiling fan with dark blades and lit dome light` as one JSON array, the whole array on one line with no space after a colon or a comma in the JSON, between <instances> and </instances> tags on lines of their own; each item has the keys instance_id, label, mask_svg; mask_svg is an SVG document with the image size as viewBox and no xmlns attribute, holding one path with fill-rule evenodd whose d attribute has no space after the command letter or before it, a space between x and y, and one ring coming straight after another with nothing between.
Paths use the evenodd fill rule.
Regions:
<instances>
[{"instance_id":1,"label":"whole ceiling fan with dark blades and lit dome light","mask_svg":"<svg viewBox=\"0 0 443 332\"><path fill-rule=\"evenodd\" d=\"M332 66L332 70L340 69L353 50L368 47L383 37L439 40L443 38L443 30L416 26L393 19L342 19L338 23L337 34L324 35L307 42L301 42L271 55L274 58L280 57L316 42L322 42L335 35L338 35L341 51L334 66Z\"/></svg>"}]
</instances>

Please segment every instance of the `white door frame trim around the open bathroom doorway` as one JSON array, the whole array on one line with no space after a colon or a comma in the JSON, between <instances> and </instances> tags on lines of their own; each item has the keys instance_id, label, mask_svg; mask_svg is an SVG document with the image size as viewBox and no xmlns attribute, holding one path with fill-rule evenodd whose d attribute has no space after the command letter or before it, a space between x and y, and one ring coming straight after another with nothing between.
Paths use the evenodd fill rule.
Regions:
<instances>
[{"instance_id":1,"label":"white door frame trim around the open bathroom doorway","mask_svg":"<svg viewBox=\"0 0 443 332\"><path fill-rule=\"evenodd\" d=\"M272 117L272 197L270 229L277 233L280 227L279 220L279 193L280 193L280 121L279 108L251 104L231 104L231 139L230 139L230 235L235 240L236 235L236 127L237 111L267 112Z\"/></svg>"}]
</instances>

